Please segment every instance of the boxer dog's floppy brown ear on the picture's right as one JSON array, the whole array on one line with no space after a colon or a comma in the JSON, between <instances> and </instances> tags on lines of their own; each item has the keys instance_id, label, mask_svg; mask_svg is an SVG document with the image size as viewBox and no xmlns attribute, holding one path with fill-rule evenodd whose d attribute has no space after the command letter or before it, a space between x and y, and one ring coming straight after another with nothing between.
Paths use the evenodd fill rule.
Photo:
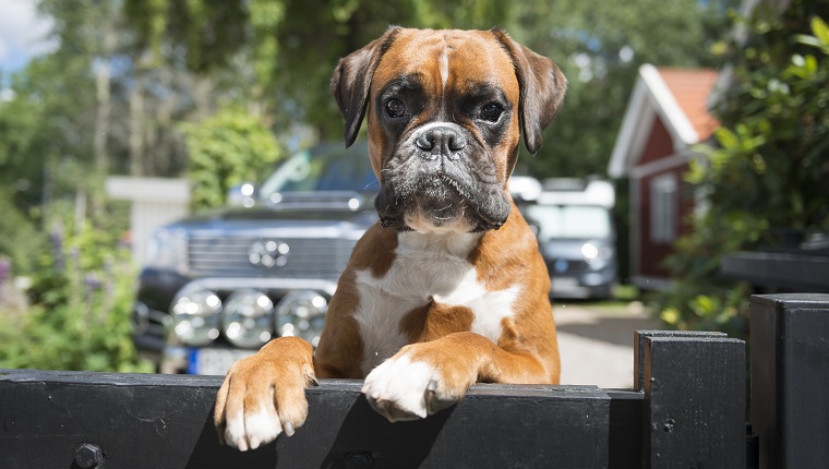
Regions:
<instances>
[{"instance_id":1,"label":"boxer dog's floppy brown ear on the picture's right","mask_svg":"<svg viewBox=\"0 0 829 469\"><path fill-rule=\"evenodd\" d=\"M521 89L518 111L524 143L534 155L544 143L544 128L553 120L564 100L567 79L552 60L516 43L506 32L492 29L492 33L513 58Z\"/></svg>"}]
</instances>

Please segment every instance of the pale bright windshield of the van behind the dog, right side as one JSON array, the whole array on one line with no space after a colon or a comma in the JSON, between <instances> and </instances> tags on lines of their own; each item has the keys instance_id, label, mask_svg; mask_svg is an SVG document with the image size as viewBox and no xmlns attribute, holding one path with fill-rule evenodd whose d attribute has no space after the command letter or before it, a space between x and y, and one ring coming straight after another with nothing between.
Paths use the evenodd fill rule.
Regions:
<instances>
[{"instance_id":1,"label":"pale bright windshield of the van behind the dog, right side","mask_svg":"<svg viewBox=\"0 0 829 469\"><path fill-rule=\"evenodd\" d=\"M542 242L556 238L606 238L610 213L594 205L529 205L527 217L539 227Z\"/></svg>"}]
</instances>

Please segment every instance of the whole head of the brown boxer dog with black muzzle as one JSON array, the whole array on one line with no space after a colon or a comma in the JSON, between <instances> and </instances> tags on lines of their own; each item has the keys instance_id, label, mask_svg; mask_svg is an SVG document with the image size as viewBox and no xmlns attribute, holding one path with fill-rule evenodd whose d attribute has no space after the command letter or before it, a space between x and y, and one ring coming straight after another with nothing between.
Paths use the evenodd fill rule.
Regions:
<instances>
[{"instance_id":1,"label":"whole head of the brown boxer dog with black muzzle","mask_svg":"<svg viewBox=\"0 0 829 469\"><path fill-rule=\"evenodd\" d=\"M346 144L369 111L369 152L383 226L497 229L520 134L534 154L566 80L505 32L389 28L332 76Z\"/></svg>"}]
</instances>

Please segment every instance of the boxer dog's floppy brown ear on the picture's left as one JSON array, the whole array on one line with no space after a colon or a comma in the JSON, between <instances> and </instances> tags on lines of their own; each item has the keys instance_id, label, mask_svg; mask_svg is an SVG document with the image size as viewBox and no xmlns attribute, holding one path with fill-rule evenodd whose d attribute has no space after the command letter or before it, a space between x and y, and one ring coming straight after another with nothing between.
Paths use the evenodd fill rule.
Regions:
<instances>
[{"instance_id":1,"label":"boxer dog's floppy brown ear on the picture's left","mask_svg":"<svg viewBox=\"0 0 829 469\"><path fill-rule=\"evenodd\" d=\"M383 36L372 40L368 46L339 59L334 70L331 88L337 99L339 111L346 118L346 146L351 146L357 140L369 104L369 88L374 70L399 31L398 26L389 27Z\"/></svg>"}]
</instances>

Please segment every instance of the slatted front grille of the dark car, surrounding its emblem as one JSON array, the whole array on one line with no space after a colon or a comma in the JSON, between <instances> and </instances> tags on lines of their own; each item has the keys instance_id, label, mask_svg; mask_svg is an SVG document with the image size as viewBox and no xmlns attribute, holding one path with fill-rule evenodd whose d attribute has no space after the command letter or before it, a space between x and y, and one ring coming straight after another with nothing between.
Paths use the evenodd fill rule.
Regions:
<instances>
[{"instance_id":1,"label":"slatted front grille of the dark car, surrounding its emblem","mask_svg":"<svg viewBox=\"0 0 829 469\"><path fill-rule=\"evenodd\" d=\"M286 277L334 279L346 268L355 240L333 238L280 238L290 251L281 267L265 268L249 260L249 251L262 238L191 236L190 272L194 276Z\"/></svg>"}]
</instances>

